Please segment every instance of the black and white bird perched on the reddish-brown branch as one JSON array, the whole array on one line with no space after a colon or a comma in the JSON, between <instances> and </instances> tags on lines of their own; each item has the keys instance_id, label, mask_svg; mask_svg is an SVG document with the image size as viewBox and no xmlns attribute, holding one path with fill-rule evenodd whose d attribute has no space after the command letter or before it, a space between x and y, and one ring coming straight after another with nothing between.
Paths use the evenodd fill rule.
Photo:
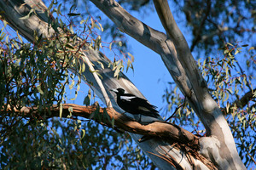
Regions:
<instances>
[{"instance_id":1,"label":"black and white bird perched on the reddish-brown branch","mask_svg":"<svg viewBox=\"0 0 256 170\"><path fill-rule=\"evenodd\" d=\"M133 115L144 115L159 117L159 111L156 111L156 106L150 105L147 99L142 99L133 94L125 94L123 88L112 89L117 94L117 104L124 111ZM139 121L141 121L141 116Z\"/></svg>"}]
</instances>

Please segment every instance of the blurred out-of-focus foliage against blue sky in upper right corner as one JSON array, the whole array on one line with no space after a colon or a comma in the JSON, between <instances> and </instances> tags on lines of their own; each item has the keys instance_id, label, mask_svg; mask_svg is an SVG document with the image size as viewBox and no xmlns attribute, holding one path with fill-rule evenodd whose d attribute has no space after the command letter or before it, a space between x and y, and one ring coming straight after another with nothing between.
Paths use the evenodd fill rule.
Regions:
<instances>
[{"instance_id":1,"label":"blurred out-of-focus foliage against blue sky in upper right corner","mask_svg":"<svg viewBox=\"0 0 256 170\"><path fill-rule=\"evenodd\" d=\"M173 1L183 11L186 26L192 30L191 51L207 54L221 48L225 42L237 39L251 41L256 27L256 3L241 0ZM177 19L179 20L179 19Z\"/></svg>"}]
</instances>

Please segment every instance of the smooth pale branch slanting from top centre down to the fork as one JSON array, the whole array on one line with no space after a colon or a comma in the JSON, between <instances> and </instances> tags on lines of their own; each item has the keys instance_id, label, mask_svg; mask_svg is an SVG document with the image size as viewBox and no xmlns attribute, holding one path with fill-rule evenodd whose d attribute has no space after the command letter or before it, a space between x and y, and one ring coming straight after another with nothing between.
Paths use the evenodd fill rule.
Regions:
<instances>
[{"instance_id":1,"label":"smooth pale branch slanting from top centre down to the fork","mask_svg":"<svg viewBox=\"0 0 256 170\"><path fill-rule=\"evenodd\" d=\"M158 54L162 53L163 49L160 47L159 43L164 43L167 39L164 33L156 31L137 20L115 1L90 1L94 3L97 8L100 8L103 13L107 14L108 18L113 20L121 31L135 38L138 42L143 43L143 45L154 50L154 52Z\"/></svg>"}]
</instances>

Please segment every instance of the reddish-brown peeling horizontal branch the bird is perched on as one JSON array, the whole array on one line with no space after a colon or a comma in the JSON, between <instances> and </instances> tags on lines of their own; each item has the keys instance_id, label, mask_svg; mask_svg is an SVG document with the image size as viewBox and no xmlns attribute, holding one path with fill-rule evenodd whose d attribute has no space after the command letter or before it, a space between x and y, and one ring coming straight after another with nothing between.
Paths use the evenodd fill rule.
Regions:
<instances>
[{"instance_id":1,"label":"reddish-brown peeling horizontal branch the bird is perched on","mask_svg":"<svg viewBox=\"0 0 256 170\"><path fill-rule=\"evenodd\" d=\"M70 111L72 108L73 112ZM10 107L8 107L8 111ZM51 118L60 115L60 108L53 105L49 111L38 111L37 107L22 107L20 111L15 110L18 116L32 117L37 119ZM103 119L103 114L108 113L110 119ZM113 127L111 122L114 119L114 126L130 133L138 133L160 137L162 139L177 141L179 143L188 144L192 148L198 148L198 137L193 133L178 127L170 122L137 122L129 116L114 111L113 108L102 108L97 103L90 106L82 106L75 104L62 105L62 117L81 116L91 118L108 127ZM105 116L106 117L106 116Z\"/></svg>"}]
</instances>

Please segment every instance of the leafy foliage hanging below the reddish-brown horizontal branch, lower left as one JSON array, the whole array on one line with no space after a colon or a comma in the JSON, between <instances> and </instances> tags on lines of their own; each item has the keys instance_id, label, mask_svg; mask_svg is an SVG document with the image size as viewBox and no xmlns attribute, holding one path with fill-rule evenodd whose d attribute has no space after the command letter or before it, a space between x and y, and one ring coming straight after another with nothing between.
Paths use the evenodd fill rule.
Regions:
<instances>
[{"instance_id":1,"label":"leafy foliage hanging below the reddish-brown horizontal branch, lower left","mask_svg":"<svg viewBox=\"0 0 256 170\"><path fill-rule=\"evenodd\" d=\"M1 142L1 169L128 169L150 163L127 133L95 122L23 120L12 128Z\"/></svg>"}]
</instances>

